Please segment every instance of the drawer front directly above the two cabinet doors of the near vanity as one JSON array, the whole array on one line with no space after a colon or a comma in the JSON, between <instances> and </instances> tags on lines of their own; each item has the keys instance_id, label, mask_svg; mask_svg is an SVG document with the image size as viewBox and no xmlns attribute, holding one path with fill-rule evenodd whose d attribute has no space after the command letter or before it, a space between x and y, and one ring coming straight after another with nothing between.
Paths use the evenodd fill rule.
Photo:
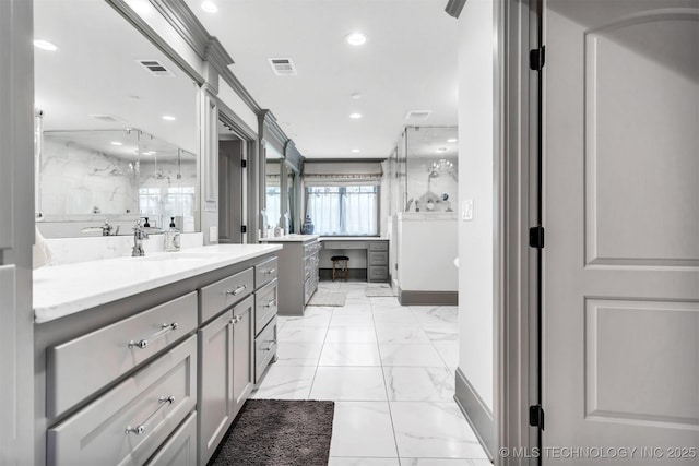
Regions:
<instances>
[{"instance_id":1,"label":"drawer front directly above the two cabinet doors of the near vanity","mask_svg":"<svg viewBox=\"0 0 699 466\"><path fill-rule=\"evenodd\" d=\"M251 294L253 280L254 272L250 267L199 290L199 323L206 322Z\"/></svg>"}]
</instances>

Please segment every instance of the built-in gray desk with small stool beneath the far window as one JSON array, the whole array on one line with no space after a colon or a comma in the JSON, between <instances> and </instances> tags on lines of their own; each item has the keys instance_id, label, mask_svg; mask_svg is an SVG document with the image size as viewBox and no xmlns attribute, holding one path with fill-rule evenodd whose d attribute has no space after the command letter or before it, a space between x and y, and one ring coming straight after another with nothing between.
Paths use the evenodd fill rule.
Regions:
<instances>
[{"instance_id":1,"label":"built-in gray desk with small stool beneath the far window","mask_svg":"<svg viewBox=\"0 0 699 466\"><path fill-rule=\"evenodd\" d=\"M366 237L321 237L323 244L320 262L328 264L332 255L350 258L350 276L353 271L366 271L367 282L389 280L389 240L387 238ZM353 259L355 261L353 262ZM355 277L357 272L355 272Z\"/></svg>"}]
</instances>

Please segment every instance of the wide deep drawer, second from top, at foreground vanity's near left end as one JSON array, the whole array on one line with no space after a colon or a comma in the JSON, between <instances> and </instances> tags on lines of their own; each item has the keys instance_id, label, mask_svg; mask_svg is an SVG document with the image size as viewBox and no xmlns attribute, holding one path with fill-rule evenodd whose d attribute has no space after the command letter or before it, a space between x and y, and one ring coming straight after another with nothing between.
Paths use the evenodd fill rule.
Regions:
<instances>
[{"instance_id":1,"label":"wide deep drawer, second from top, at foreground vanity's near left end","mask_svg":"<svg viewBox=\"0 0 699 466\"><path fill-rule=\"evenodd\" d=\"M142 465L197 404L197 337L50 428L49 465Z\"/></svg>"}]
</instances>

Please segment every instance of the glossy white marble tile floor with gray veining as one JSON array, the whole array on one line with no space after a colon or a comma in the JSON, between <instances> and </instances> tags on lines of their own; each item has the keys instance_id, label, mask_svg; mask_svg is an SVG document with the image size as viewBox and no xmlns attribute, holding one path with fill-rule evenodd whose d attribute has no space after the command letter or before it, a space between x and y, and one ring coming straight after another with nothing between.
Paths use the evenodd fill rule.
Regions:
<instances>
[{"instance_id":1,"label":"glossy white marble tile floor with gray veining","mask_svg":"<svg viewBox=\"0 0 699 466\"><path fill-rule=\"evenodd\" d=\"M453 401L457 307L402 307L344 290L344 307L280 316L277 357L253 398L333 399L330 466L486 466Z\"/></svg>"}]
</instances>

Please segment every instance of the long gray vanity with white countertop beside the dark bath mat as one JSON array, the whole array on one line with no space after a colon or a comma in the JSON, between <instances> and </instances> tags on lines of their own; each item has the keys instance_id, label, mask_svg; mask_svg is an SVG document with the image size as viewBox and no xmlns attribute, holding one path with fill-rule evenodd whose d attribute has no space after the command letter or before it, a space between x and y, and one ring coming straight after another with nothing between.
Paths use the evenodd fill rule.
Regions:
<instances>
[{"instance_id":1,"label":"long gray vanity with white countertop beside the dark bath mat","mask_svg":"<svg viewBox=\"0 0 699 466\"><path fill-rule=\"evenodd\" d=\"M280 249L36 270L37 464L205 465L274 359Z\"/></svg>"}]
</instances>

